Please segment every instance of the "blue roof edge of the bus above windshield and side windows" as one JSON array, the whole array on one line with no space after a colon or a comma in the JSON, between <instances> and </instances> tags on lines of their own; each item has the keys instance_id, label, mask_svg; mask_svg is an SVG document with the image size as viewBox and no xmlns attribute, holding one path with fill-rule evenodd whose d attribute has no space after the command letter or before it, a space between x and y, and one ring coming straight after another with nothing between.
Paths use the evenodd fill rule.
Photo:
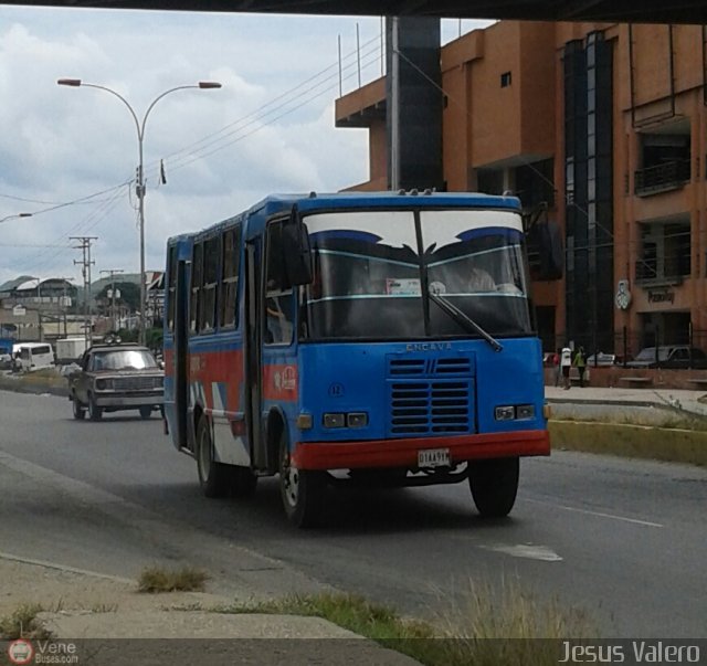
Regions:
<instances>
[{"instance_id":1,"label":"blue roof edge of the bus above windshield and side windows","mask_svg":"<svg viewBox=\"0 0 707 666\"><path fill-rule=\"evenodd\" d=\"M513 195L482 194L478 192L333 192L309 194L270 194L252 208L232 218L222 220L192 233L180 234L169 239L168 244L173 245L180 241L210 235L238 220L260 218L262 225L272 215L285 213L297 204L300 212L315 210L348 209L351 207L371 208L478 208L496 209L520 212L520 200ZM257 224L255 226L262 230Z\"/></svg>"}]
</instances>

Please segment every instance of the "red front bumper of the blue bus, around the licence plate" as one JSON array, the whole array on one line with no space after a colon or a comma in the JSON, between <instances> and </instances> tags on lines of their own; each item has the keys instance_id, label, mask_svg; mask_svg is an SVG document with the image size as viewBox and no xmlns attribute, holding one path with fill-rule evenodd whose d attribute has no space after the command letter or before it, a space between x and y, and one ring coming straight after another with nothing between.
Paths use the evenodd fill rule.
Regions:
<instances>
[{"instance_id":1,"label":"red front bumper of the blue bus, around the licence plate","mask_svg":"<svg viewBox=\"0 0 707 666\"><path fill-rule=\"evenodd\" d=\"M293 462L299 469L356 469L361 467L415 467L423 448L449 448L453 463L481 458L550 455L547 431L376 440L372 442L299 442Z\"/></svg>"}]
</instances>

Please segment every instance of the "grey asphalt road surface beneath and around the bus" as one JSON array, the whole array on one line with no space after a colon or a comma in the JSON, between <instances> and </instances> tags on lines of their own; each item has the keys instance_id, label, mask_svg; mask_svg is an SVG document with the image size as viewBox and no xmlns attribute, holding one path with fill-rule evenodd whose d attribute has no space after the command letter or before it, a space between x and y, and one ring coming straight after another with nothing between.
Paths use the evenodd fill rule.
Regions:
<instances>
[{"instance_id":1,"label":"grey asphalt road surface beneath and around the bus","mask_svg":"<svg viewBox=\"0 0 707 666\"><path fill-rule=\"evenodd\" d=\"M156 416L77 422L66 399L0 392L0 551L130 578L190 563L240 598L333 586L416 616L506 585L606 637L705 637L706 469L556 452L521 463L506 520L481 520L465 483L336 488L316 531L288 526L276 479L249 501L196 479Z\"/></svg>"}]
</instances>

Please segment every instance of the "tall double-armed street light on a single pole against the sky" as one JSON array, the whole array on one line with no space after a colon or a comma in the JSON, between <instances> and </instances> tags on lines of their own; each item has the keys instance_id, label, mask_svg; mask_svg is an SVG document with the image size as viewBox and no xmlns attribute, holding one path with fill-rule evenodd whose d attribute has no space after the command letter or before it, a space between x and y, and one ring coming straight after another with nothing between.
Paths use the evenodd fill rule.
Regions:
<instances>
[{"instance_id":1,"label":"tall double-armed street light on a single pole against the sky","mask_svg":"<svg viewBox=\"0 0 707 666\"><path fill-rule=\"evenodd\" d=\"M170 93L175 93L177 91L184 91L188 88L199 88L202 91L209 91L213 88L220 88L221 84L214 81L200 81L196 85L179 85L173 88L169 88L165 91L147 107L145 115L143 116L143 120L140 121L137 117L137 114L128 103L128 101L116 93L114 89L108 88L104 85L97 85L95 83L84 83L81 78L60 78L56 82L57 85L66 85L70 87L80 87L84 86L87 88L96 88L98 91L105 91L106 93L110 93L113 96L117 97L127 109L130 112L133 116L133 120L135 120L135 128L137 129L137 141L138 141L138 168L137 168L137 184L135 186L135 191L138 199L138 215L139 215L139 225L140 225L140 343L146 343L146 305L147 305L147 285L146 285L146 273L145 273L145 171L144 171L144 160L143 160L143 144L145 140L145 124L147 123L147 117L150 115L150 112L155 107L155 105L166 95Z\"/></svg>"}]
</instances>

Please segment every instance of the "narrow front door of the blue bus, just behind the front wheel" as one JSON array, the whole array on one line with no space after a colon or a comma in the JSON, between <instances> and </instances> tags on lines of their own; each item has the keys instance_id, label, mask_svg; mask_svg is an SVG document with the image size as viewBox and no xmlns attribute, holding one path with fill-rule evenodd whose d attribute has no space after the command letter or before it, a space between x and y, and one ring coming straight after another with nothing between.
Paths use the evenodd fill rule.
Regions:
<instances>
[{"instance_id":1,"label":"narrow front door of the blue bus, just behind the front wheel","mask_svg":"<svg viewBox=\"0 0 707 666\"><path fill-rule=\"evenodd\" d=\"M251 462L254 468L267 466L261 405L263 402L263 298L262 298L262 240L245 244L245 427Z\"/></svg>"}]
</instances>

